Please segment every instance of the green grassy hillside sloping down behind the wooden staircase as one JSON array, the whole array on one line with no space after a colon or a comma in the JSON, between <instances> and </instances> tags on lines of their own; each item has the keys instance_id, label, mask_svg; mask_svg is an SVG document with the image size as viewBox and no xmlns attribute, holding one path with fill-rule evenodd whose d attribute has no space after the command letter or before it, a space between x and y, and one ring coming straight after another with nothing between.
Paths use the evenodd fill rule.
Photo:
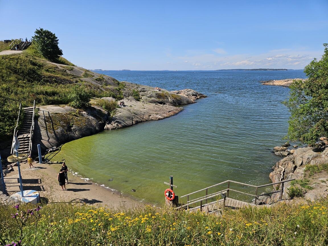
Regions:
<instances>
[{"instance_id":1,"label":"green grassy hillside sloping down behind the wooden staircase","mask_svg":"<svg viewBox=\"0 0 328 246\"><path fill-rule=\"evenodd\" d=\"M0 56L0 97L24 101L24 106L69 104L74 100L76 86L92 97L123 97L120 82L89 70L75 67L63 57L53 63L38 54L33 46L19 54ZM80 90L80 91L81 91ZM8 137L16 125L17 111L2 100L0 138Z\"/></svg>"}]
</instances>

